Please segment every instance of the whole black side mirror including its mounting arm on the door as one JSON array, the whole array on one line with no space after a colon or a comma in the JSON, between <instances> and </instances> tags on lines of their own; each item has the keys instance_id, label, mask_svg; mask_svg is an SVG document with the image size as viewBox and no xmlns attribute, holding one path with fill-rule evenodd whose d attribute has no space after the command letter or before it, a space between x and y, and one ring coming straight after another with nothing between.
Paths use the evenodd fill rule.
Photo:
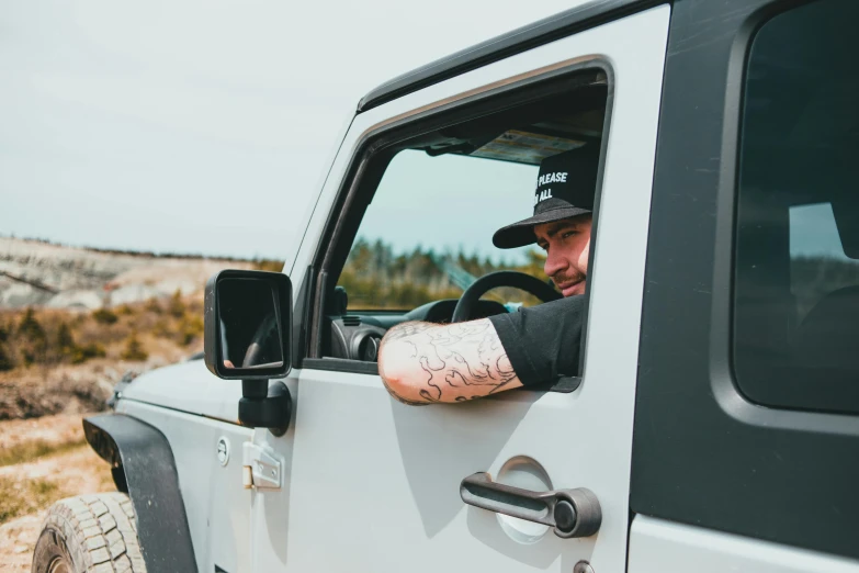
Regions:
<instances>
[{"instance_id":1,"label":"whole black side mirror including its mounting arm on the door","mask_svg":"<svg viewBox=\"0 0 859 573\"><path fill-rule=\"evenodd\" d=\"M205 295L206 368L218 378L241 380L239 422L282 436L290 425L292 396L269 379L290 372L292 283L280 272L224 270L208 279Z\"/></svg>"}]
</instances>

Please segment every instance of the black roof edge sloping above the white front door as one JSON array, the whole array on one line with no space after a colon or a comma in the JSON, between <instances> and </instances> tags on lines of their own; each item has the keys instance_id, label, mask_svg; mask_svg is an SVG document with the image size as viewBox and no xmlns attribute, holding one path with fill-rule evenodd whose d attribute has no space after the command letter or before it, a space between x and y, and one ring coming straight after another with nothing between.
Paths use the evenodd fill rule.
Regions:
<instances>
[{"instance_id":1,"label":"black roof edge sloping above the white front door","mask_svg":"<svg viewBox=\"0 0 859 573\"><path fill-rule=\"evenodd\" d=\"M361 99L358 103L358 113L493 61L668 1L594 0L539 20L386 81Z\"/></svg>"}]
</instances>

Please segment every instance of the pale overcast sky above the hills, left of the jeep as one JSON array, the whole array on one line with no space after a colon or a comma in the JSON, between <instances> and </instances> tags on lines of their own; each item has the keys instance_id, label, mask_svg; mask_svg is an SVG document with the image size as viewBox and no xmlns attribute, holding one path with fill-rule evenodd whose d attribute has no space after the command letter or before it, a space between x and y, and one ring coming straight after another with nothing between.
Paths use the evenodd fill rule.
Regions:
<instances>
[{"instance_id":1,"label":"pale overcast sky above the hills, left of the jeep","mask_svg":"<svg viewBox=\"0 0 859 573\"><path fill-rule=\"evenodd\" d=\"M362 96L578 3L2 2L0 235L282 258Z\"/></svg>"}]
</instances>

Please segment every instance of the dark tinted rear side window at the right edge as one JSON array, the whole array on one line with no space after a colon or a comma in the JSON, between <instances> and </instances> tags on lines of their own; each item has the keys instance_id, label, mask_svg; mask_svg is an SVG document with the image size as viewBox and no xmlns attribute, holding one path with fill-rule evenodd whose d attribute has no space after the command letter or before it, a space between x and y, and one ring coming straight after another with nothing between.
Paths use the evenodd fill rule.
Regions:
<instances>
[{"instance_id":1,"label":"dark tinted rear side window at the right edge","mask_svg":"<svg viewBox=\"0 0 859 573\"><path fill-rule=\"evenodd\" d=\"M859 36L852 0L768 21L748 55L734 370L753 401L859 413Z\"/></svg>"}]
</instances>

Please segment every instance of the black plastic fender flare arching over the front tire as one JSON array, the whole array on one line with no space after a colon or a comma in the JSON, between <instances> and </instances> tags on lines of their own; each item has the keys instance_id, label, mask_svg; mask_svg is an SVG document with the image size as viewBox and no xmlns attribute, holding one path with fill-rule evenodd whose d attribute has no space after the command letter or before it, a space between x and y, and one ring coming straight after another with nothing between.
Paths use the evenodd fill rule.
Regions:
<instances>
[{"instance_id":1,"label":"black plastic fender flare arching over the front tire","mask_svg":"<svg viewBox=\"0 0 859 573\"><path fill-rule=\"evenodd\" d=\"M83 432L111 464L114 480L124 476L146 570L197 571L173 451L163 434L124 414L84 418Z\"/></svg>"}]
</instances>

